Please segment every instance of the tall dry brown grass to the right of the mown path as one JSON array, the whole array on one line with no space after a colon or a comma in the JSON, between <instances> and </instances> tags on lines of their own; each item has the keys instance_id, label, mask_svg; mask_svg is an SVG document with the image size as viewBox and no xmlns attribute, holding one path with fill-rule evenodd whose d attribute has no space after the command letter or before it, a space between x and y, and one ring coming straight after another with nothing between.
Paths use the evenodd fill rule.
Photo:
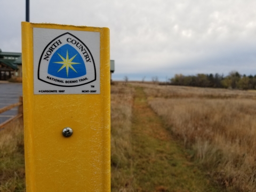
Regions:
<instances>
[{"instance_id":1,"label":"tall dry brown grass to the right of the mown path","mask_svg":"<svg viewBox=\"0 0 256 192\"><path fill-rule=\"evenodd\" d=\"M146 87L150 106L228 191L256 191L256 92Z\"/></svg>"}]
</instances>

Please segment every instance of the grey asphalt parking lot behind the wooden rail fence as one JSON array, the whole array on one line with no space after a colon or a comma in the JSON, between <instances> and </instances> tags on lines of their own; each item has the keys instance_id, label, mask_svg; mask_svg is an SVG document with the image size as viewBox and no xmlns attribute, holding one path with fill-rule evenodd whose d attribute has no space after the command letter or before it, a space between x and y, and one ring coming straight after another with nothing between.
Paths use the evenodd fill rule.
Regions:
<instances>
[{"instance_id":1,"label":"grey asphalt parking lot behind the wooden rail fence","mask_svg":"<svg viewBox=\"0 0 256 192\"><path fill-rule=\"evenodd\" d=\"M21 83L0 83L0 108L19 102L22 95ZM0 124L18 114L18 107L0 114Z\"/></svg>"}]
</instances>

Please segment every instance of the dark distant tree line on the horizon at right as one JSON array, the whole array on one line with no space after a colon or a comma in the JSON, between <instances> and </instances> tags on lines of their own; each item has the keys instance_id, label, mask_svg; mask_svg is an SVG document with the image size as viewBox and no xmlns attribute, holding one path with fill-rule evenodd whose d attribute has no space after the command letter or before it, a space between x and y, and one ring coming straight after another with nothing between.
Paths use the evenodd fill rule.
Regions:
<instances>
[{"instance_id":1,"label":"dark distant tree line on the horizon at right","mask_svg":"<svg viewBox=\"0 0 256 192\"><path fill-rule=\"evenodd\" d=\"M172 85L215 87L249 90L256 89L256 75L241 75L237 71L231 71L228 76L220 74L197 74L185 76L176 74L170 79Z\"/></svg>"}]
</instances>

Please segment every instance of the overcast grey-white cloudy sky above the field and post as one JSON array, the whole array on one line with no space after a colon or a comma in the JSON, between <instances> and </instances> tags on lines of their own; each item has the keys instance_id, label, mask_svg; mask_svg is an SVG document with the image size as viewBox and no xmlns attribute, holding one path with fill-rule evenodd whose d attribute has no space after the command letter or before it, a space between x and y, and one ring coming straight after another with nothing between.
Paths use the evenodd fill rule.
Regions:
<instances>
[{"instance_id":1,"label":"overcast grey-white cloudy sky above the field and post","mask_svg":"<svg viewBox=\"0 0 256 192\"><path fill-rule=\"evenodd\" d=\"M21 52L26 0L1 0L0 49ZM256 74L254 0L30 0L30 22L108 27L114 79Z\"/></svg>"}]
</instances>

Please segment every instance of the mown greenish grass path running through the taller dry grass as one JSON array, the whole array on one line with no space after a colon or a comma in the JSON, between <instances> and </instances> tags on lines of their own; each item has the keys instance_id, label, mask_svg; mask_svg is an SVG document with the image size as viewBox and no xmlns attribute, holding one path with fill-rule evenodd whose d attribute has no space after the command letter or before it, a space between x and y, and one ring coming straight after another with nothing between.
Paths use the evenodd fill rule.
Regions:
<instances>
[{"instance_id":1,"label":"mown greenish grass path running through the taller dry grass","mask_svg":"<svg viewBox=\"0 0 256 192\"><path fill-rule=\"evenodd\" d=\"M220 191L189 162L161 118L135 87L132 122L133 173L137 191Z\"/></svg>"}]
</instances>

